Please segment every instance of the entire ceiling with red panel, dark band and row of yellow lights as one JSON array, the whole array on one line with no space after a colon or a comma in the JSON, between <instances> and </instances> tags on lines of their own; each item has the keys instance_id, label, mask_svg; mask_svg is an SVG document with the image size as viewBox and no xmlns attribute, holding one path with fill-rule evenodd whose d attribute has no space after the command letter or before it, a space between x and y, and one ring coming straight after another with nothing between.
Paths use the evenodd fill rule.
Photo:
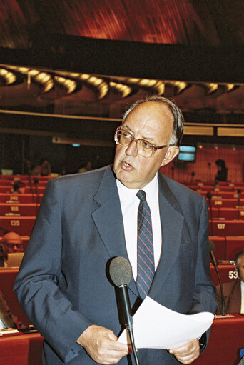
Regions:
<instances>
[{"instance_id":1,"label":"entire ceiling with red panel, dark band and row of yellow lights","mask_svg":"<svg viewBox=\"0 0 244 365\"><path fill-rule=\"evenodd\" d=\"M1 112L120 119L156 93L243 125L243 23L243 0L1 0Z\"/></svg>"}]
</instances>

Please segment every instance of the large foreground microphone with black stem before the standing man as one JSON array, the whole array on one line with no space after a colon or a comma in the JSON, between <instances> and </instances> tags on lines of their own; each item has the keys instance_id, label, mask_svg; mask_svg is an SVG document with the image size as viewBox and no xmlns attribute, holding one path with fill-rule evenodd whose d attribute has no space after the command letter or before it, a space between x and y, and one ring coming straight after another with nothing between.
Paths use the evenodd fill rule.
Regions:
<instances>
[{"instance_id":1,"label":"large foreground microphone with black stem before the standing man","mask_svg":"<svg viewBox=\"0 0 244 365\"><path fill-rule=\"evenodd\" d=\"M131 265L124 257L115 257L112 259L109 266L109 274L113 284L118 288L118 299L121 304L123 324L125 324L131 340L131 347L136 365L139 365L139 359L133 335L133 317L131 314L131 303L128 296L127 286L131 280Z\"/></svg>"}]
</instances>

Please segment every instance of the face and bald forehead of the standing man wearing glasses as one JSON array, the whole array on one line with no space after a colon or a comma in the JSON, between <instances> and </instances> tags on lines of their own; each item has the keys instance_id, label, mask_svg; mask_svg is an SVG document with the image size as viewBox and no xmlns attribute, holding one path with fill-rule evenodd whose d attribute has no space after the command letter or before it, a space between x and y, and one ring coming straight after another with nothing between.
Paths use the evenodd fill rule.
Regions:
<instances>
[{"instance_id":1,"label":"face and bald forehead of the standing man wearing glasses","mask_svg":"<svg viewBox=\"0 0 244 365\"><path fill-rule=\"evenodd\" d=\"M145 139L155 146L168 144L173 132L173 115L166 104L146 101L136 106L126 121L127 129L136 139ZM178 154L177 146L158 149L146 158L138 154L136 141L128 146L116 146L113 171L116 178L130 189L141 189L155 176L161 166L168 164Z\"/></svg>"}]
</instances>

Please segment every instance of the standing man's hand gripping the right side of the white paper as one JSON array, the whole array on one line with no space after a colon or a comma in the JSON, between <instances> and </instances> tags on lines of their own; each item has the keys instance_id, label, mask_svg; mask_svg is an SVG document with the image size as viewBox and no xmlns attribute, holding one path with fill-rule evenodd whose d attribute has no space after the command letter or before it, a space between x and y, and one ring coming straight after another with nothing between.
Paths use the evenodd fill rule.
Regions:
<instances>
[{"instance_id":1,"label":"standing man's hand gripping the right side of the white paper","mask_svg":"<svg viewBox=\"0 0 244 365\"><path fill-rule=\"evenodd\" d=\"M175 349L170 349L168 352L176 356L176 359L182 364L190 364L198 358L200 354L199 351L199 341L198 339L193 339L188 342L188 344L176 347Z\"/></svg>"}]
</instances>

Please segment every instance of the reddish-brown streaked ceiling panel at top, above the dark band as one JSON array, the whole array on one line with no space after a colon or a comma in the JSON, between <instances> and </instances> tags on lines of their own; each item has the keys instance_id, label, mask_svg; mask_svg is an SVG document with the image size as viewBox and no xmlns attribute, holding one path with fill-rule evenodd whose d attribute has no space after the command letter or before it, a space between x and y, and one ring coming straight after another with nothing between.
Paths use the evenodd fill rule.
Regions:
<instances>
[{"instance_id":1,"label":"reddish-brown streaked ceiling panel at top, above the dark band","mask_svg":"<svg viewBox=\"0 0 244 365\"><path fill-rule=\"evenodd\" d=\"M242 0L1 0L0 46L36 33L161 44L243 46Z\"/></svg>"}]
</instances>

